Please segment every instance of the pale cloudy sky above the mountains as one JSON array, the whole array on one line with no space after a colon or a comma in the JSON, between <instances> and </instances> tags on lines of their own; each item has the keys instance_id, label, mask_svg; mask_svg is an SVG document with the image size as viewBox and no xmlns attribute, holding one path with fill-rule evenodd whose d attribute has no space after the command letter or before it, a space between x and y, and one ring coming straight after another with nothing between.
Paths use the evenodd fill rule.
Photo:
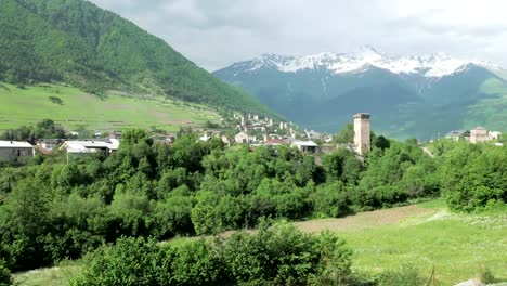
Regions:
<instances>
[{"instance_id":1,"label":"pale cloudy sky above the mountains","mask_svg":"<svg viewBox=\"0 0 507 286\"><path fill-rule=\"evenodd\" d=\"M91 0L208 70L262 53L444 52L507 67L505 0Z\"/></svg>"}]
</instances>

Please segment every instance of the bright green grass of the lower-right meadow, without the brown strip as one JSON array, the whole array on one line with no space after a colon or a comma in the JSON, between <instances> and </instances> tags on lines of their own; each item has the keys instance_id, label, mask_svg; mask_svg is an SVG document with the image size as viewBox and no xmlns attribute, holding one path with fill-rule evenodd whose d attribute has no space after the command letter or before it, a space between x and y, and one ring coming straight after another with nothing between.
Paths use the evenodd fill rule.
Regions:
<instances>
[{"instance_id":1,"label":"bright green grass of the lower-right meadow, without the brown strip","mask_svg":"<svg viewBox=\"0 0 507 286\"><path fill-rule=\"evenodd\" d=\"M440 210L420 220L378 229L344 232L354 249L355 268L379 272L413 263L439 285L480 276L480 265L507 281L507 218L450 214ZM480 264L480 265L479 265Z\"/></svg>"}]
</instances>

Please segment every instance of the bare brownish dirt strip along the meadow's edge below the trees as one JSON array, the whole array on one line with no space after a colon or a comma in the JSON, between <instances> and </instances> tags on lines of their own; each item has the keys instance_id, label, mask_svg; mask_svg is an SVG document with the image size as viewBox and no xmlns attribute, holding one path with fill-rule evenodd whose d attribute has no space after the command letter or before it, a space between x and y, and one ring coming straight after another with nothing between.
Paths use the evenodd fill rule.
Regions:
<instances>
[{"instance_id":1,"label":"bare brownish dirt strip along the meadow's edge below the trees","mask_svg":"<svg viewBox=\"0 0 507 286\"><path fill-rule=\"evenodd\" d=\"M365 229L374 229L389 224L398 224L400 222L429 216L434 213L434 209L421 208L417 205L381 209L368 212L360 212L341 219L322 219L312 221L295 222L298 229L304 232L321 232L329 231L359 231Z\"/></svg>"}]
</instances>

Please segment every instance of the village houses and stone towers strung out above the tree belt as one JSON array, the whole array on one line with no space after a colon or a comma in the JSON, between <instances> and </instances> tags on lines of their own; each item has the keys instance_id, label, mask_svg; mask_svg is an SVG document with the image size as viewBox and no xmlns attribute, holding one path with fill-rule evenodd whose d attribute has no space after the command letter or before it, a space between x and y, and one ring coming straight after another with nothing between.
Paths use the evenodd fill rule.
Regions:
<instances>
[{"instance_id":1,"label":"village houses and stone towers strung out above the tree belt","mask_svg":"<svg viewBox=\"0 0 507 286\"><path fill-rule=\"evenodd\" d=\"M248 144L251 148L288 145L308 154L332 153L336 148L344 147L362 157L370 151L369 119L370 115L366 113L359 113L353 116L353 144L344 145L333 143L333 135L330 134L301 129L294 122L275 121L269 117L251 114L234 114L226 120L222 119L222 129L214 128L196 132L202 133L197 141L203 142L219 138L226 145ZM78 132L69 132L69 136L76 138L78 135ZM95 133L95 136L98 138L37 139L35 145L26 141L0 141L0 162L15 162L26 157L34 157L36 154L50 155L54 151L64 152L67 161L93 154L109 155L118 150L121 142L120 131L114 131L107 138L102 138L102 133ZM445 139L454 141L463 139L470 143L491 141L497 146L503 146L503 143L498 142L500 136L499 131L487 131L483 127L477 127L471 130L451 131ZM171 145L177 139L177 134L154 134L153 139L156 144Z\"/></svg>"}]
</instances>

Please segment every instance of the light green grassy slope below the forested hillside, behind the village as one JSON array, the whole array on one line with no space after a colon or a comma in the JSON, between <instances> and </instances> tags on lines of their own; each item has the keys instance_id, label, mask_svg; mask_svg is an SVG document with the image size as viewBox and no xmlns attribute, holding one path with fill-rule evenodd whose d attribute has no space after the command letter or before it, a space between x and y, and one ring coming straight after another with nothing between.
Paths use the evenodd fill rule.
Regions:
<instances>
[{"instance_id":1,"label":"light green grassy slope below the forested hillside, behind the village","mask_svg":"<svg viewBox=\"0 0 507 286\"><path fill-rule=\"evenodd\" d=\"M50 96L62 100L53 103ZM68 130L86 126L89 130L113 131L141 127L174 131L183 126L218 121L216 112L198 104L164 98L107 94L101 99L76 88L63 86L26 86L0 82L0 130L51 118Z\"/></svg>"}]
</instances>

